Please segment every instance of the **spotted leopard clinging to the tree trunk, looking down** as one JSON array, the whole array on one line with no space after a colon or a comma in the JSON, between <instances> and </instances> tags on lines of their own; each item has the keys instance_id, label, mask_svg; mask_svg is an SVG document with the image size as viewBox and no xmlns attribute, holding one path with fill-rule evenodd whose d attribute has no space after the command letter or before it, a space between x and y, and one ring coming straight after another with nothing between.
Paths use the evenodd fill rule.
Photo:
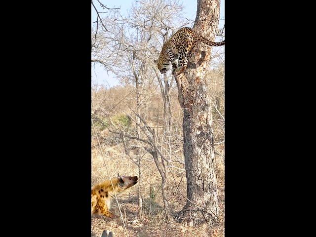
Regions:
<instances>
[{"instance_id":1,"label":"spotted leopard clinging to the tree trunk, looking down","mask_svg":"<svg viewBox=\"0 0 316 237\"><path fill-rule=\"evenodd\" d=\"M213 42L198 34L192 28L180 28L162 45L158 59L154 60L160 73L164 74L169 70L170 62L173 75L178 76L184 72L188 66L188 58L192 55L192 50L198 41L209 46L225 45L225 40ZM179 59L178 64L176 64L176 58Z\"/></svg>"}]
</instances>

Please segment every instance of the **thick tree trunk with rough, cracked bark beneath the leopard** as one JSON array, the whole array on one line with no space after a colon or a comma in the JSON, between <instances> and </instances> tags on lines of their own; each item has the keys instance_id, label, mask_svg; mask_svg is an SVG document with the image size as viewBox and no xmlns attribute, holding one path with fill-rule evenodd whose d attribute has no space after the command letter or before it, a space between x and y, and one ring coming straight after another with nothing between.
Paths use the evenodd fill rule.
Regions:
<instances>
[{"instance_id":1,"label":"thick tree trunk with rough, cracked bark beneath the leopard","mask_svg":"<svg viewBox=\"0 0 316 237\"><path fill-rule=\"evenodd\" d=\"M219 0L197 0L197 17L193 29L215 40L219 23ZM206 84L206 72L212 47L198 43L189 58L187 70L176 76L179 102L184 110L183 136L187 176L187 201L178 219L189 226L207 223L217 225L218 194L214 159L211 101ZM215 214L212 214L212 212Z\"/></svg>"}]
</instances>

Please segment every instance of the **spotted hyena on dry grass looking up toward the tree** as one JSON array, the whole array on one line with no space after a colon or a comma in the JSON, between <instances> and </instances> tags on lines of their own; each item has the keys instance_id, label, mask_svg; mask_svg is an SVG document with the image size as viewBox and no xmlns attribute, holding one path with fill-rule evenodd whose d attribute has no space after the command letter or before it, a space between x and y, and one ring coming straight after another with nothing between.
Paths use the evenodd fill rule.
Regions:
<instances>
[{"instance_id":1,"label":"spotted hyena on dry grass looking up toward the tree","mask_svg":"<svg viewBox=\"0 0 316 237\"><path fill-rule=\"evenodd\" d=\"M119 176L112 179L116 195L137 184L137 176ZM110 180L106 180L91 188L91 215L101 214L110 218L118 218L110 211L111 201L115 197Z\"/></svg>"}]
</instances>

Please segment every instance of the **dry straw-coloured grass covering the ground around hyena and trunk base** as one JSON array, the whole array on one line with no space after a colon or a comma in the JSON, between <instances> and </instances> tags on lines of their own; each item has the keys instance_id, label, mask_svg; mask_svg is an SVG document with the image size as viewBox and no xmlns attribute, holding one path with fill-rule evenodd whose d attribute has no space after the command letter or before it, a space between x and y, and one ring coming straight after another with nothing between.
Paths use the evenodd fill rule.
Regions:
<instances>
[{"instance_id":1,"label":"dry straw-coloured grass covering the ground around hyena and trunk base","mask_svg":"<svg viewBox=\"0 0 316 237\"><path fill-rule=\"evenodd\" d=\"M121 151L119 146L114 146L105 149L106 162L112 176L120 174L124 175L138 175L138 167ZM92 183L94 185L98 182L107 179L106 169L103 164L103 158L97 149L92 150ZM224 219L224 165L217 160L217 176L218 176L218 191L219 191L219 209L220 218ZM186 178L184 171L173 171L175 179L180 191L186 196ZM182 197L176 187L173 179L168 180L167 197L171 209L171 213L176 215L178 211L185 205L186 200ZM154 188L155 198L150 198L150 185ZM172 217L165 218L163 215L163 203L161 197L161 177L150 156L143 158L142 164L142 181L141 189L144 194L144 219L139 221L137 218L138 204L137 204L137 184L128 189L125 193L118 196L118 201L121 206L123 217L126 219L126 229L129 237L224 237L224 225L217 230L211 230L207 226L188 227L182 223L176 222ZM119 214L118 206L114 200L113 210ZM136 221L135 221L136 220ZM135 221L135 222L133 222ZM95 217L91 220L91 234L100 237L103 230L110 230L115 237L125 237L123 224L115 220L110 220L103 217Z\"/></svg>"}]
</instances>

